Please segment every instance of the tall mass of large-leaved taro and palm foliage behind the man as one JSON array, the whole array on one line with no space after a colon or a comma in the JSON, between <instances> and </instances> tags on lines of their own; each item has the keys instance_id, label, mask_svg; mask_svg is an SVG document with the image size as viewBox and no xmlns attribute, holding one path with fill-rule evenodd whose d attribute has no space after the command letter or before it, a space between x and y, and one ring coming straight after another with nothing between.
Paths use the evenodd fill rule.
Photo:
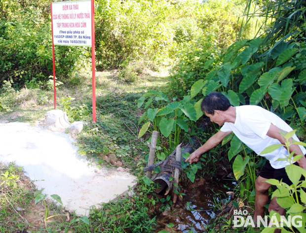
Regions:
<instances>
[{"instance_id":1,"label":"tall mass of large-leaved taro and palm foliage behind the man","mask_svg":"<svg viewBox=\"0 0 306 233\"><path fill-rule=\"evenodd\" d=\"M299 126L301 130L297 133L305 137L305 1L279 0L261 2L258 5L263 7L250 14L249 1L245 14L248 17L266 17L263 27L270 26L266 34L236 41L219 56L213 53L205 56L197 67L184 67L181 64L184 70L178 69L175 77L191 75L199 67L202 70L209 68L209 72L191 75L192 78L188 81L195 83L202 80L203 96L219 91L229 98L233 106L259 104L274 111L284 120L291 119L291 126ZM276 20L268 24L269 17ZM200 49L194 48L194 57L199 52ZM174 83L175 80L171 79L172 88ZM183 93L187 95L188 90L186 88Z\"/></svg>"}]
</instances>

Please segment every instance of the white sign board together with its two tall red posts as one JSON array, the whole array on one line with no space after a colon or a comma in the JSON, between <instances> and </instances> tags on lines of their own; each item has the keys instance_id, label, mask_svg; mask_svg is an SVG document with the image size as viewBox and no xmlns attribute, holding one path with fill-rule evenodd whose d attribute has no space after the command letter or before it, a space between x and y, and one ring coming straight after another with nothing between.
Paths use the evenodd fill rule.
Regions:
<instances>
[{"instance_id":1,"label":"white sign board together with its two tall red posts","mask_svg":"<svg viewBox=\"0 0 306 233\"><path fill-rule=\"evenodd\" d=\"M54 109L56 108L54 45L91 46L92 120L96 121L96 66L94 0L51 3Z\"/></svg>"}]
</instances>

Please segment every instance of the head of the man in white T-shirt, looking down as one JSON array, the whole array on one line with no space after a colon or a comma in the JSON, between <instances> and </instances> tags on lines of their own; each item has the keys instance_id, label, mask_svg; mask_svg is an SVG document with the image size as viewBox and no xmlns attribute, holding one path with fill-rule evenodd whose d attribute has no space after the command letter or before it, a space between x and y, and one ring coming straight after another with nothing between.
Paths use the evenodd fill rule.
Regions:
<instances>
[{"instance_id":1,"label":"head of the man in white T-shirt, looking down","mask_svg":"<svg viewBox=\"0 0 306 233\"><path fill-rule=\"evenodd\" d=\"M229 99L220 92L208 94L201 102L201 109L205 112L205 115L208 116L212 122L220 126L226 121L224 111L228 110L230 106Z\"/></svg>"}]
</instances>

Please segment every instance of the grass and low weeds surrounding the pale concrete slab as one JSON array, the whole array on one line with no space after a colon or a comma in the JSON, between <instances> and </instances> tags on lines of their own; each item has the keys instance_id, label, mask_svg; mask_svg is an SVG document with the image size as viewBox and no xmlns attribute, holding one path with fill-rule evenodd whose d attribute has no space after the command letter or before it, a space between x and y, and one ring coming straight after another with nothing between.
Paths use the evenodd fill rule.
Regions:
<instances>
[{"instance_id":1,"label":"grass and low weeds surrounding the pale concrete slab","mask_svg":"<svg viewBox=\"0 0 306 233\"><path fill-rule=\"evenodd\" d=\"M92 122L90 75L84 73L62 84L57 89L57 109L67 110L71 122L87 123L77 137L80 152L101 166L112 166L103 156L115 154L124 167L131 168L138 177L143 176L141 167L145 166L149 149L137 138L142 114L137 109L137 100L148 90L165 90L167 75L167 72L148 71L135 83L128 84L118 78L116 70L97 72L97 122ZM15 92L8 86L2 89L0 104L0 122L35 124L54 108L53 91L23 88ZM153 205L158 198L153 194L153 186L147 186L142 179L132 198L119 197L99 210L92 209L89 219L65 212L47 201L47 206L51 206L50 216L64 216L51 218L45 225L45 207L42 202L34 203L37 190L22 168L1 165L0 177L0 232L152 232L154 229Z\"/></svg>"}]
</instances>

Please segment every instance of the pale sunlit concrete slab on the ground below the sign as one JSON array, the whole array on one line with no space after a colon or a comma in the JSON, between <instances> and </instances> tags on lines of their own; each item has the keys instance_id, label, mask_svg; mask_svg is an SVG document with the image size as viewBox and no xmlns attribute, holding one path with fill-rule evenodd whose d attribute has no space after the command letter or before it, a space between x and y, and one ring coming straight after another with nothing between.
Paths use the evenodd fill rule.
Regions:
<instances>
[{"instance_id":1,"label":"pale sunlit concrete slab on the ground below the sign","mask_svg":"<svg viewBox=\"0 0 306 233\"><path fill-rule=\"evenodd\" d=\"M57 194L70 212L89 215L128 191L136 177L115 169L88 166L67 133L51 132L29 123L0 122L0 162L15 162L47 195Z\"/></svg>"}]
</instances>

